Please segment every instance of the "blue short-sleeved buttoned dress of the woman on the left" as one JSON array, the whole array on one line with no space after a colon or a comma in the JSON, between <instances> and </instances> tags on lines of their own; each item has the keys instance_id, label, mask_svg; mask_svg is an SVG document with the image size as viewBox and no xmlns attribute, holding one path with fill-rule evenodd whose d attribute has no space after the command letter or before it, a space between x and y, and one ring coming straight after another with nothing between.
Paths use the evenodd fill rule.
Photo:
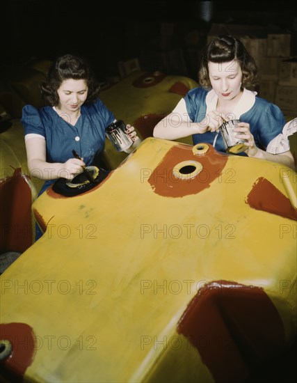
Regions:
<instances>
[{"instance_id":1,"label":"blue short-sleeved buttoned dress of the woman on the left","mask_svg":"<svg viewBox=\"0 0 297 383\"><path fill-rule=\"evenodd\" d=\"M81 106L81 116L75 125L61 118L52 107L36 109L26 105L22 110L22 125L26 134L45 137L47 162L66 162L73 157L72 150L83 157L87 166L104 150L105 128L115 116L101 100ZM47 180L40 194L56 180Z\"/></svg>"}]
</instances>

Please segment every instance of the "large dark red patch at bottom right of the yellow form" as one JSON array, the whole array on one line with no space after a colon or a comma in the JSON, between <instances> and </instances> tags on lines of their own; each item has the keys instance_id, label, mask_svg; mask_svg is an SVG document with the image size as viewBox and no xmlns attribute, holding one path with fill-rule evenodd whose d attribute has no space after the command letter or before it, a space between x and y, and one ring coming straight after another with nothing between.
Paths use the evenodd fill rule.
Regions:
<instances>
[{"instance_id":1,"label":"large dark red patch at bottom right of the yellow form","mask_svg":"<svg viewBox=\"0 0 297 383\"><path fill-rule=\"evenodd\" d=\"M212 281L192 299L177 326L215 382L244 382L257 364L282 352L284 326L262 288Z\"/></svg>"}]
</instances>

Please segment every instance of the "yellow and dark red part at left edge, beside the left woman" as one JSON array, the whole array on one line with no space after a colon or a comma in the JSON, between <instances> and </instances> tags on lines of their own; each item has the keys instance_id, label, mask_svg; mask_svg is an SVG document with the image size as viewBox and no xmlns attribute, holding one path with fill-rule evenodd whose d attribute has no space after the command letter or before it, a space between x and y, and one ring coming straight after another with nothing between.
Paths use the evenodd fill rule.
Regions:
<instances>
[{"instance_id":1,"label":"yellow and dark red part at left edge, beside the left woman","mask_svg":"<svg viewBox=\"0 0 297 383\"><path fill-rule=\"evenodd\" d=\"M0 253L23 252L34 242L32 202L43 181L29 176L24 128L18 120L0 134Z\"/></svg>"}]
</instances>

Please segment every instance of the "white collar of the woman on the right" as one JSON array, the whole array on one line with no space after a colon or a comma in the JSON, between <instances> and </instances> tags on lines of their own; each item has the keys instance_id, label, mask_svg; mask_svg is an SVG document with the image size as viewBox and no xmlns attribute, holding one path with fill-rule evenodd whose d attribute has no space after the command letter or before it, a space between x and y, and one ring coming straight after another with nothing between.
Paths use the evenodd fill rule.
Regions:
<instances>
[{"instance_id":1,"label":"white collar of the woman on the right","mask_svg":"<svg viewBox=\"0 0 297 383\"><path fill-rule=\"evenodd\" d=\"M242 114L246 113L252 108L256 101L256 95L257 92L248 91L248 89L243 88L243 94L241 95L241 99L239 102L237 102L235 109L232 110L232 114L234 114L234 118L236 120L239 120ZM214 92L214 89L211 89L211 91L207 93L205 102L207 104L207 114L210 111L216 110L218 96Z\"/></svg>"}]
</instances>

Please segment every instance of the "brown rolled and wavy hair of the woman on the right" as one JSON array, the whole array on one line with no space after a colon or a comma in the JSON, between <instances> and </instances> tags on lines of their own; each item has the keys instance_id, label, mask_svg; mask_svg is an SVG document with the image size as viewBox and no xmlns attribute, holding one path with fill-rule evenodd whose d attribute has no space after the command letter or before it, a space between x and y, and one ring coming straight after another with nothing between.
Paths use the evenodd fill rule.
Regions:
<instances>
[{"instance_id":1,"label":"brown rolled and wavy hair of the woman on the right","mask_svg":"<svg viewBox=\"0 0 297 383\"><path fill-rule=\"evenodd\" d=\"M236 60L242 72L241 86L250 91L258 84L258 70L255 59L250 56L243 43L232 36L218 36L204 49L198 72L198 81L203 88L209 88L209 61L212 63L227 63Z\"/></svg>"}]
</instances>

